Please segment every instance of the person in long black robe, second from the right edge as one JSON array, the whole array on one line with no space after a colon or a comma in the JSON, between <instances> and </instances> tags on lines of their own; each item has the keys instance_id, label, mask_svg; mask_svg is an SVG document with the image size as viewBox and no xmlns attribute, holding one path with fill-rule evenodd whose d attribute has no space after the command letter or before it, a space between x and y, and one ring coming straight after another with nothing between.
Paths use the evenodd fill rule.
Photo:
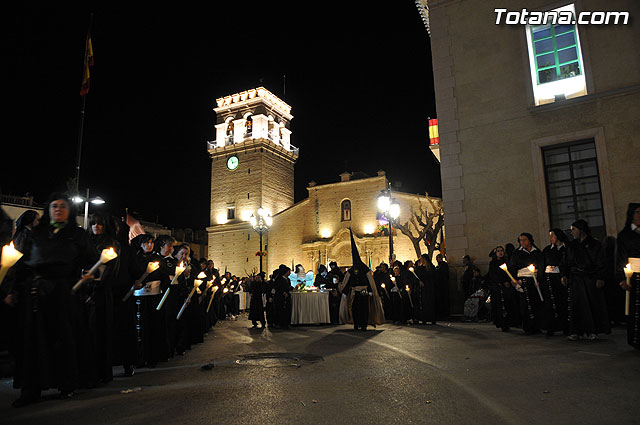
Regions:
<instances>
[{"instance_id":1,"label":"person in long black robe, second from the right edge","mask_svg":"<svg viewBox=\"0 0 640 425\"><path fill-rule=\"evenodd\" d=\"M569 285L569 340L598 339L611 333L604 297L605 265L600 241L591 236L585 220L571 225L563 283Z\"/></svg>"}]
</instances>

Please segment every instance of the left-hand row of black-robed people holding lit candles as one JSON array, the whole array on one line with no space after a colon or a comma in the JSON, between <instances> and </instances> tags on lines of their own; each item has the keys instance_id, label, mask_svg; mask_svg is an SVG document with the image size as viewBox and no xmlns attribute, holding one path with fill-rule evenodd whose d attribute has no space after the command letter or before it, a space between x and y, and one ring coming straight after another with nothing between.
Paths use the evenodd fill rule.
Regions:
<instances>
[{"instance_id":1,"label":"left-hand row of black-robed people holding lit candles","mask_svg":"<svg viewBox=\"0 0 640 425\"><path fill-rule=\"evenodd\" d=\"M41 218L27 211L15 232L3 230L3 244L13 240L23 253L0 287L2 340L20 389L15 407L48 389L66 398L105 384L114 366L125 377L137 367L156 367L202 343L218 320L240 314L234 293L241 279L221 276L212 261L198 260L189 244L171 236L129 241L119 218L94 214L85 231L63 193L51 196ZM108 248L117 257L89 275ZM150 263L158 267L147 274ZM177 266L184 271L174 279Z\"/></svg>"}]
</instances>

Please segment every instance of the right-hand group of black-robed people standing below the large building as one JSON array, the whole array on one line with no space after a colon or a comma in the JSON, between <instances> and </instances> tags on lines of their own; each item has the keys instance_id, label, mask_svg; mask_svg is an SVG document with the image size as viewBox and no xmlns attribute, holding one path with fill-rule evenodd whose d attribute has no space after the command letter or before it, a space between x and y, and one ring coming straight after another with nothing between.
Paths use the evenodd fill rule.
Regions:
<instances>
[{"instance_id":1,"label":"right-hand group of black-robed people standing below the large building","mask_svg":"<svg viewBox=\"0 0 640 425\"><path fill-rule=\"evenodd\" d=\"M517 248L497 246L490 257L484 276L468 256L463 259L467 317L492 320L504 332L518 327L526 334L564 334L571 341L596 340L610 334L612 324L626 322L629 344L640 348L640 204L629 205L617 240L598 241L580 219L571 226L571 238L551 229L543 250L524 232ZM633 272L629 280L627 264Z\"/></svg>"}]
</instances>

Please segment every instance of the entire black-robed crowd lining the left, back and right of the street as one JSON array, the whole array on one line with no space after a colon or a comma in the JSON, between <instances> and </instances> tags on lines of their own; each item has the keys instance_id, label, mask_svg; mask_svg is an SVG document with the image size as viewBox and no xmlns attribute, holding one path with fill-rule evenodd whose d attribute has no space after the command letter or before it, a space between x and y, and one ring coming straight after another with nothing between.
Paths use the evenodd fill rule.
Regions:
<instances>
[{"instance_id":1,"label":"entire black-robed crowd lining the left, back and right of the street","mask_svg":"<svg viewBox=\"0 0 640 425\"><path fill-rule=\"evenodd\" d=\"M78 388L109 382L114 366L131 376L135 367L153 368L184 355L218 320L236 319L240 309L234 294L240 290L251 294L254 327L290 326L293 288L287 266L269 279L264 273L242 279L226 270L221 275L211 260L195 258L189 244L166 235L142 234L129 241L126 222L103 214L95 214L85 231L76 225L73 209L68 197L57 193L43 217L23 214L15 233L7 236L6 220L0 223L0 242L13 239L24 254L0 287L0 312L11 323L2 329L9 333L15 359L14 387L21 391L14 406L37 401L43 390L58 389L61 397L70 397ZM629 205L625 227L608 249L591 236L584 220L571 226L571 241L560 229L549 234L550 244L542 251L529 233L520 234L518 248L496 247L485 276L465 257L462 286L475 300L470 303L474 314L503 331L561 332L571 340L596 339L611 332L612 320L626 320L629 343L640 348L640 204ZM106 248L117 257L87 274ZM426 254L415 263L382 263L371 281L358 256L358 264L354 260L347 271L355 279L345 279L332 262L329 268L319 266L315 286L329 292L334 324L345 323L341 309L353 292L354 328L366 330L370 282L386 321L435 324L448 318L450 304L448 264L442 255L436 259L435 267ZM626 264L633 268L628 280ZM176 276L178 266L184 271ZM73 292L79 278L80 289ZM622 314L624 292L618 286L631 289L628 315Z\"/></svg>"}]
</instances>

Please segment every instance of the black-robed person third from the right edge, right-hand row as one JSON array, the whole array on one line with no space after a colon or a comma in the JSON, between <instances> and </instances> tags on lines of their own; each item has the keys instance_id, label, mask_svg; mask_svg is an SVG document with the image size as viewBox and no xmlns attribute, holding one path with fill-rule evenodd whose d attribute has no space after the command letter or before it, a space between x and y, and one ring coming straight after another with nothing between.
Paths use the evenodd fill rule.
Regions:
<instances>
[{"instance_id":1,"label":"black-robed person third from the right edge, right-hand row","mask_svg":"<svg viewBox=\"0 0 640 425\"><path fill-rule=\"evenodd\" d=\"M540 280L540 290L544 297L542 307L542 328L547 335L562 331L567 334L567 288L561 282L561 270L569 243L561 229L549 230L550 244L542 250L544 275Z\"/></svg>"}]
</instances>

